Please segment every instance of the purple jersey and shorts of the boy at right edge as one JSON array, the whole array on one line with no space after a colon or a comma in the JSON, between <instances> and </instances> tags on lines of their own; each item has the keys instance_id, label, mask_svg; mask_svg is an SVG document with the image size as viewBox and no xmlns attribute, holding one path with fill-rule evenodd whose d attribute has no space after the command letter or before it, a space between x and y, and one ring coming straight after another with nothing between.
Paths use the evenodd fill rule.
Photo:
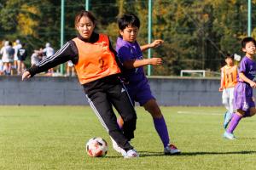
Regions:
<instances>
[{"instance_id":1,"label":"purple jersey and shorts of the boy at right edge","mask_svg":"<svg viewBox=\"0 0 256 170\"><path fill-rule=\"evenodd\" d=\"M239 72L242 72L247 78L256 81L256 62L244 56L241 59ZM238 78L238 83L234 91L234 109L249 111L250 108L255 107L253 102L253 88L250 84Z\"/></svg>"}]
</instances>

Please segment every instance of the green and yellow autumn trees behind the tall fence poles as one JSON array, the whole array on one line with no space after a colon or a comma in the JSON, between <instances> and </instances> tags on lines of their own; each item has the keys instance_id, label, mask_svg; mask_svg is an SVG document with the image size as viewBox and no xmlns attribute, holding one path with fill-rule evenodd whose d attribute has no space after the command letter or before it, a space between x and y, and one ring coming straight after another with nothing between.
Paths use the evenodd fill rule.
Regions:
<instances>
[{"instance_id":1,"label":"green and yellow autumn trees behind the tall fence poles","mask_svg":"<svg viewBox=\"0 0 256 170\"><path fill-rule=\"evenodd\" d=\"M161 57L153 75L175 76L183 69L219 71L224 54L241 54L241 39L247 37L247 0L153 0L152 38L163 39L152 56ZM76 36L74 16L84 9L84 0L65 1L65 41ZM252 8L256 8L252 0ZM148 42L148 0L90 0L96 30L107 33L113 45L118 33L117 17L134 13L141 20L138 42ZM255 10L252 10L252 21ZM0 41L20 39L28 51L50 42L60 48L61 1L0 0ZM256 29L253 26L253 37ZM144 54L147 57L147 54Z\"/></svg>"}]
</instances>

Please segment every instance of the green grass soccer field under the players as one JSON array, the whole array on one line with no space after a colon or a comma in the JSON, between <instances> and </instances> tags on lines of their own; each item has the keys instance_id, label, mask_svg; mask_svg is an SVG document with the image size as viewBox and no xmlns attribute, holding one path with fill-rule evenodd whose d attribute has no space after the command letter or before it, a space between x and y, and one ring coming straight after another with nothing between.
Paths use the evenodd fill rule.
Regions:
<instances>
[{"instance_id":1,"label":"green grass soccer field under the players","mask_svg":"<svg viewBox=\"0 0 256 170\"><path fill-rule=\"evenodd\" d=\"M241 121L238 139L222 138L223 107L162 107L180 156L164 156L151 116L137 107L132 144L137 159L116 153L86 106L0 106L0 169L255 169L255 117ZM91 158L85 142L108 141L108 155Z\"/></svg>"}]
</instances>

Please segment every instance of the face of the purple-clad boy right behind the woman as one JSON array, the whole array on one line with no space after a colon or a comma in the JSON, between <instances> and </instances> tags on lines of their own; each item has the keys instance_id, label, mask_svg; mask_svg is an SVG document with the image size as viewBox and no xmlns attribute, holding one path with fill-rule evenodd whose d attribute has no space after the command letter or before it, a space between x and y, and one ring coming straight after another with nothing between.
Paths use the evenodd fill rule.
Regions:
<instances>
[{"instance_id":1,"label":"face of the purple-clad boy right behind the woman","mask_svg":"<svg viewBox=\"0 0 256 170\"><path fill-rule=\"evenodd\" d=\"M123 40L127 42L135 42L138 34L137 26L126 26L123 31L119 31L120 35L123 37Z\"/></svg>"}]
</instances>

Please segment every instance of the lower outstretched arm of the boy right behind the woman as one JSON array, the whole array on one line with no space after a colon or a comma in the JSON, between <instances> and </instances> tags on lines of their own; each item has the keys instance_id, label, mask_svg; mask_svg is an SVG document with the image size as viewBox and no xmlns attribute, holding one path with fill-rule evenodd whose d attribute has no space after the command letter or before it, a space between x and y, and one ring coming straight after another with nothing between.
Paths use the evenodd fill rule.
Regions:
<instances>
[{"instance_id":1,"label":"lower outstretched arm of the boy right behind the woman","mask_svg":"<svg viewBox=\"0 0 256 170\"><path fill-rule=\"evenodd\" d=\"M123 65L126 69L133 69L145 65L161 65L161 58L151 58L151 59L138 59L138 60L125 60Z\"/></svg>"}]
</instances>

